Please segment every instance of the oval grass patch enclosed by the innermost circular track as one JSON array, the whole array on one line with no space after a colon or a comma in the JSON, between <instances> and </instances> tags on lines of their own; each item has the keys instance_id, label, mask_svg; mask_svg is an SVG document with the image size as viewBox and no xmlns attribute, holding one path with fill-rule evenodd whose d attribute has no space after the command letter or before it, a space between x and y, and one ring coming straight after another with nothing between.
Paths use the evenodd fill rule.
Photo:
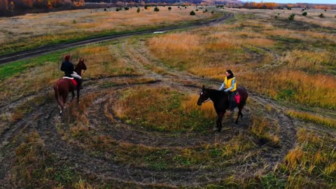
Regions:
<instances>
[{"instance_id":1,"label":"oval grass patch enclosed by the innermost circular track","mask_svg":"<svg viewBox=\"0 0 336 189\"><path fill-rule=\"evenodd\" d=\"M146 127L148 130L207 130L204 124L211 123L214 119L210 107L205 107L205 111L201 107L192 107L186 111L186 104L195 103L189 99L188 94L169 87L134 87L120 91L113 112L125 123Z\"/></svg>"}]
</instances>

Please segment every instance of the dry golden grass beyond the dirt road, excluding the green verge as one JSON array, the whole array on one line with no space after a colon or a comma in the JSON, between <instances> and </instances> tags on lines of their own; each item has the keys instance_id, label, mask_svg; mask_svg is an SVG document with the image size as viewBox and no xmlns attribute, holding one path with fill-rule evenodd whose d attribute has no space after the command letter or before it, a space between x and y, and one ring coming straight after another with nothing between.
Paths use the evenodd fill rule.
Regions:
<instances>
[{"instance_id":1,"label":"dry golden grass beyond the dirt road, excluding the green verge","mask_svg":"<svg viewBox=\"0 0 336 189\"><path fill-rule=\"evenodd\" d=\"M50 41L59 38L72 38L69 34L97 33L100 31L125 31L139 27L153 25L171 25L176 22L186 22L211 17L211 13L190 16L188 8L159 7L159 12L144 10L137 13L137 9L115 11L115 8L64 10L61 12L40 13L17 16L15 18L0 18L0 44L13 41ZM66 15L66 16L64 16Z\"/></svg>"}]
</instances>

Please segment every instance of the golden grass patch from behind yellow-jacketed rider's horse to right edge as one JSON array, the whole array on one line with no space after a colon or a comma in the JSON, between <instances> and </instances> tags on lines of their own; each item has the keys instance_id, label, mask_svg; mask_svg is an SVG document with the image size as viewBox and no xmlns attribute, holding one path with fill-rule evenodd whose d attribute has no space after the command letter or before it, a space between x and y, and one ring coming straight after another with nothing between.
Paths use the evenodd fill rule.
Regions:
<instances>
[{"instance_id":1,"label":"golden grass patch from behind yellow-jacketed rider's horse to right edge","mask_svg":"<svg viewBox=\"0 0 336 189\"><path fill-rule=\"evenodd\" d=\"M246 72L241 75L240 79L244 80L248 87L252 87L276 99L284 98L300 102L300 104L321 106L326 109L336 108L335 77L323 74L309 74L304 71L295 71L287 68L268 71L268 73L267 76L258 78L255 77L255 73ZM281 92L286 90L290 90L293 93L283 94Z\"/></svg>"}]
</instances>

